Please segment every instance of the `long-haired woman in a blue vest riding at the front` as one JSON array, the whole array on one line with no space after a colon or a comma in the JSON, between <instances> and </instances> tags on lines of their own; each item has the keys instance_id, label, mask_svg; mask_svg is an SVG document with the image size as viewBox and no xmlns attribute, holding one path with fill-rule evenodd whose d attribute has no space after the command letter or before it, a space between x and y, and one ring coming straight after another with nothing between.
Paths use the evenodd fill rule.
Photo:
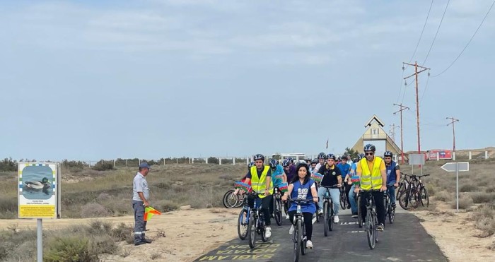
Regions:
<instances>
[{"instance_id":1,"label":"long-haired woman in a blue vest riding at the front","mask_svg":"<svg viewBox=\"0 0 495 262\"><path fill-rule=\"evenodd\" d=\"M306 163L300 163L296 167L297 177L293 177L291 184L289 184L289 191L284 193L282 200L286 201L287 196L291 196L293 199L313 199L314 202L318 202L318 196L316 192L315 181L311 179L311 173ZM292 203L289 208L289 219L293 223L294 215L296 214L297 204ZM301 204L301 212L304 217L304 227L306 229L306 248L313 249L313 242L311 242L311 235L313 234L313 215L315 214L316 206L313 203ZM294 231L294 226L291 225L289 234Z\"/></svg>"}]
</instances>

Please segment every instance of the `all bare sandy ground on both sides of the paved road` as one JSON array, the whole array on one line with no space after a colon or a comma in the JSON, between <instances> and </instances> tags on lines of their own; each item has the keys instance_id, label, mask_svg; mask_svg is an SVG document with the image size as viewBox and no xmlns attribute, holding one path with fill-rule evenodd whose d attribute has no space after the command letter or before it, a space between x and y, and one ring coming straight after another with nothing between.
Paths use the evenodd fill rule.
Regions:
<instances>
[{"instance_id":1,"label":"all bare sandy ground on both sides of the paved road","mask_svg":"<svg viewBox=\"0 0 495 262\"><path fill-rule=\"evenodd\" d=\"M474 228L472 213L455 213L447 204L436 202L436 211L418 210L414 215L433 236L450 261L495 261L495 236L477 237L481 231ZM134 246L122 243L121 256L102 256L101 261L193 261L221 244L237 237L238 209L185 209L154 216L148 222L146 237L153 244ZM112 222L134 223L132 216L101 218ZM43 227L53 229L91 219L44 220ZM16 225L18 228L36 227L35 220L0 220L0 228ZM165 237L163 237L163 234Z\"/></svg>"}]
</instances>

